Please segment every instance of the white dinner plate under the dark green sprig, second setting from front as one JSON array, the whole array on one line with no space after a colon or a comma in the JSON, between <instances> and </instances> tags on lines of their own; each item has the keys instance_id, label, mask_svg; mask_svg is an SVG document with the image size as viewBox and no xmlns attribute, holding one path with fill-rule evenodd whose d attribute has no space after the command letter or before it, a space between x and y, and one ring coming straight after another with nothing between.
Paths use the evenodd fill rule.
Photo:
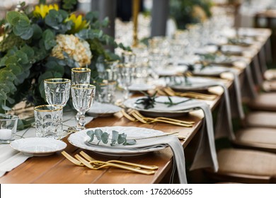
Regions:
<instances>
[{"instance_id":1,"label":"white dinner plate under the dark green sprig, second setting from front","mask_svg":"<svg viewBox=\"0 0 276 198\"><path fill-rule=\"evenodd\" d=\"M185 109L185 103L180 103L179 105L173 105L171 107L168 107L168 105L163 104L164 102L169 102L168 96L158 96L156 97L156 103L153 108L150 109L144 109L144 106L141 104L137 104L137 100L141 98L146 98L146 96L137 97L137 98L130 98L125 101L124 105L125 107L132 108L134 110L139 110L139 112L142 112L144 115L149 116L166 116L166 117L178 117L180 115L185 115L187 112L190 112L190 110ZM170 97L173 103L178 103L183 100L190 100L190 98L184 98L184 97L177 97L177 96L171 96Z\"/></svg>"}]
</instances>

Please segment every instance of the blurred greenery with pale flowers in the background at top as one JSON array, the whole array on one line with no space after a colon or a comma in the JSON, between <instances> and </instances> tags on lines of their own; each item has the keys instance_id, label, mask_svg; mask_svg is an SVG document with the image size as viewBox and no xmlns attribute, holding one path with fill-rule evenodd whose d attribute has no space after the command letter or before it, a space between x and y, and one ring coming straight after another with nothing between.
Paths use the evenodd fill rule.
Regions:
<instances>
[{"instance_id":1,"label":"blurred greenery with pale flowers in the background at top","mask_svg":"<svg viewBox=\"0 0 276 198\"><path fill-rule=\"evenodd\" d=\"M170 0L170 16L176 20L178 29L188 24L200 23L212 16L212 0Z\"/></svg>"}]
</instances>

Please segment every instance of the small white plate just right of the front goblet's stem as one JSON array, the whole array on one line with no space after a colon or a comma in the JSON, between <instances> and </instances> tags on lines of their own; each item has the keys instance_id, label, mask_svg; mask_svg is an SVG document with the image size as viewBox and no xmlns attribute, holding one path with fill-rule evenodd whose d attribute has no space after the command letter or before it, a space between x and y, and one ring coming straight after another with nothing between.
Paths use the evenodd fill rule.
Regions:
<instances>
[{"instance_id":1,"label":"small white plate just right of the front goblet's stem","mask_svg":"<svg viewBox=\"0 0 276 198\"><path fill-rule=\"evenodd\" d=\"M112 116L116 112L119 112L120 110L120 107L113 104L94 102L90 110L86 113L91 116L108 117Z\"/></svg>"}]
</instances>

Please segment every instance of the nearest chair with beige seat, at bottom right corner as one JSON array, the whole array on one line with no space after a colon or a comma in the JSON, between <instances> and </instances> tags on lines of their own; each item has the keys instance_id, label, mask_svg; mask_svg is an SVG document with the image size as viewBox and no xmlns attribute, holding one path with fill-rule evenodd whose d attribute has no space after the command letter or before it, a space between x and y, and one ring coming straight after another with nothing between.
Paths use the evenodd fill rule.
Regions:
<instances>
[{"instance_id":1,"label":"nearest chair with beige seat, at bottom right corner","mask_svg":"<svg viewBox=\"0 0 276 198\"><path fill-rule=\"evenodd\" d=\"M218 182L275 183L276 154L227 148L217 153L219 170L206 169L207 177Z\"/></svg>"}]
</instances>

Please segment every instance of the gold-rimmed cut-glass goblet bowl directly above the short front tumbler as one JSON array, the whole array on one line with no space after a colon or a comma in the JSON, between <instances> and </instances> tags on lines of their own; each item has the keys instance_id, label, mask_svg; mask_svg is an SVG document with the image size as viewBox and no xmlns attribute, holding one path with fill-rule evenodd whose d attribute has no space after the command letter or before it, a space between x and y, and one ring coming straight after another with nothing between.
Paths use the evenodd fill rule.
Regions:
<instances>
[{"instance_id":1,"label":"gold-rimmed cut-glass goblet bowl directly above the short front tumbler","mask_svg":"<svg viewBox=\"0 0 276 198\"><path fill-rule=\"evenodd\" d=\"M69 100L71 80L67 78L49 78L44 81L46 101L49 105L64 107Z\"/></svg>"}]
</instances>

